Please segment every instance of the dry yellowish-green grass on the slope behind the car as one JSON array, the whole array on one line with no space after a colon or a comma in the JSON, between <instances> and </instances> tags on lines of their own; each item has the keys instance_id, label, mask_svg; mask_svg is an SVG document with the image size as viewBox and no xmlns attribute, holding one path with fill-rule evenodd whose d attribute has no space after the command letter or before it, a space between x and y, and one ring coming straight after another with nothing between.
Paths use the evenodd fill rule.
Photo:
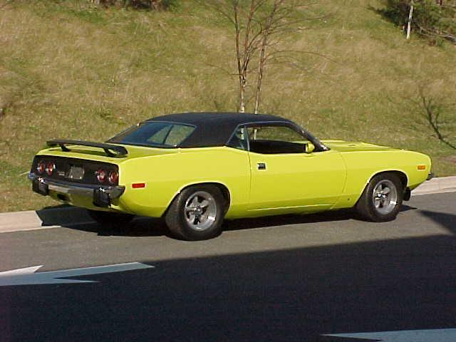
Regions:
<instances>
[{"instance_id":1,"label":"dry yellowish-green grass on the slope behind the car","mask_svg":"<svg viewBox=\"0 0 456 342\"><path fill-rule=\"evenodd\" d=\"M303 0L303 2L305 2ZM286 47L295 65L271 65L261 111L320 138L425 152L439 176L456 175L456 150L435 138L413 102L455 96L456 49L405 41L375 0L318 1ZM93 9L88 1L16 0L0 9L0 212L55 204L25 179L52 138L105 140L139 120L180 111L236 110L232 30L180 1L172 11ZM334 61L334 62L333 62ZM217 66L217 67L216 67ZM456 143L456 110L442 126Z\"/></svg>"}]
</instances>

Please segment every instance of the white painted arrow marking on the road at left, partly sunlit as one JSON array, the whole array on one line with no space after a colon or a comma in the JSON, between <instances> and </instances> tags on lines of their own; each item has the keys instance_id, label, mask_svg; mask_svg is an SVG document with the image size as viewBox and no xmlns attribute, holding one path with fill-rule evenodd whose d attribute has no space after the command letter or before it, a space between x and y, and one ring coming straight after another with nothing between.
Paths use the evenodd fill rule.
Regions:
<instances>
[{"instance_id":1,"label":"white painted arrow marking on the road at left, partly sunlit","mask_svg":"<svg viewBox=\"0 0 456 342\"><path fill-rule=\"evenodd\" d=\"M48 271L35 273L41 266L26 267L0 272L0 286L38 285L38 284L74 284L97 283L98 281L62 279L73 276L88 276L90 274L114 273L133 271L135 269L150 269L155 266L130 262L128 264L115 264L107 266L86 267L84 269L63 269L61 271Z\"/></svg>"}]
</instances>

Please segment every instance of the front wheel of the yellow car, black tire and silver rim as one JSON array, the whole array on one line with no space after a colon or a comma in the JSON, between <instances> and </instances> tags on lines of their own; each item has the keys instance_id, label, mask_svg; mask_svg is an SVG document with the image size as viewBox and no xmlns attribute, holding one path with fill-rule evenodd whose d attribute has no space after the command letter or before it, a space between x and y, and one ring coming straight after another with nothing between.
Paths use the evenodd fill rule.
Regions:
<instances>
[{"instance_id":1,"label":"front wheel of the yellow car, black tire and silver rim","mask_svg":"<svg viewBox=\"0 0 456 342\"><path fill-rule=\"evenodd\" d=\"M372 178L356 204L363 219L388 222L395 219L403 201L403 185L397 175L382 173Z\"/></svg>"}]
</instances>

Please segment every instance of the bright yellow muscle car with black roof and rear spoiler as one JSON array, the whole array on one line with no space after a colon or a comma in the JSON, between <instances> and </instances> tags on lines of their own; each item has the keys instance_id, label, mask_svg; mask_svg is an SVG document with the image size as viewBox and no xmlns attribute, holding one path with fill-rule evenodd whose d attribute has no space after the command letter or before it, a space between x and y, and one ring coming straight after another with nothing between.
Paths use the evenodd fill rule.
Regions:
<instances>
[{"instance_id":1,"label":"bright yellow muscle car with black roof and rear spoiler","mask_svg":"<svg viewBox=\"0 0 456 342\"><path fill-rule=\"evenodd\" d=\"M364 142L320 141L290 120L244 113L180 113L138 123L105 143L51 140L33 159L33 191L89 209L98 222L164 217L188 240L224 218L355 207L395 219L431 177L430 158Z\"/></svg>"}]
</instances>

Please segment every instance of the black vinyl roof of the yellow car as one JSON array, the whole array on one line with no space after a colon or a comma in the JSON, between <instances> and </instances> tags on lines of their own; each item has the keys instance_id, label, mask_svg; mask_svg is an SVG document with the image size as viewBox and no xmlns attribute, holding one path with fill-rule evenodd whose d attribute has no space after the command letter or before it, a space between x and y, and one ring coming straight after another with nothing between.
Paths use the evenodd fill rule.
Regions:
<instances>
[{"instance_id":1,"label":"black vinyl roof of the yellow car","mask_svg":"<svg viewBox=\"0 0 456 342\"><path fill-rule=\"evenodd\" d=\"M177 113L157 116L146 122L182 123L195 126L195 130L179 147L224 146L239 125L249 123L286 123L290 120L275 115L252 113Z\"/></svg>"}]
</instances>

